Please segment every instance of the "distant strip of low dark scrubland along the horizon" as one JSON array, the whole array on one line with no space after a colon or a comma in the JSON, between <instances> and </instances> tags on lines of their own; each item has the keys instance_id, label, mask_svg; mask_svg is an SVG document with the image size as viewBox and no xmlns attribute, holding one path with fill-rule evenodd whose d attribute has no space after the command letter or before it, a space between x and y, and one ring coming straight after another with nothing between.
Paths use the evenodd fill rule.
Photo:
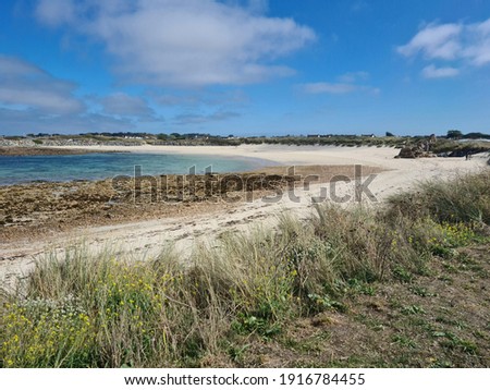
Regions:
<instances>
[{"instance_id":1,"label":"distant strip of low dark scrubland along the horizon","mask_svg":"<svg viewBox=\"0 0 490 390\"><path fill-rule=\"evenodd\" d=\"M448 132L449 134L451 133ZM460 133L460 132L458 132ZM391 134L391 133L390 133ZM345 146L345 147L393 147L403 148L415 146L427 141L424 135L415 136L375 136L366 135L334 135L310 134L307 136L216 136L210 134L148 134L148 133L87 133L77 135L39 134L0 137L0 156L11 154L12 146L21 146L15 153L37 154L45 148L70 146L138 146L138 145L185 145L185 146L240 146L240 145L295 145L295 146ZM461 134L457 137L441 136L431 144L430 151L449 154L454 157L466 154L478 154L490 150L490 136L483 133ZM4 146L3 148L1 146ZM9 146L9 147L7 147ZM28 148L30 147L30 148ZM70 154L70 149L64 149ZM63 150L53 151L63 154Z\"/></svg>"}]
</instances>

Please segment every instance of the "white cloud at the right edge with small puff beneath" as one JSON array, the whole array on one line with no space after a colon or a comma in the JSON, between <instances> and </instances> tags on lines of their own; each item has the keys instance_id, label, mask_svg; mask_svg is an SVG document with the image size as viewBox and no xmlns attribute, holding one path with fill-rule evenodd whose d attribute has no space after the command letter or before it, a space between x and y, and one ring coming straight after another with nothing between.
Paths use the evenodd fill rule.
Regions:
<instances>
[{"instance_id":1,"label":"white cloud at the right edge with small puff beneath","mask_svg":"<svg viewBox=\"0 0 490 390\"><path fill-rule=\"evenodd\" d=\"M471 24L429 24L408 44L396 48L405 57L421 54L426 60L458 61L469 66L490 64L490 19ZM455 68L437 70L427 66L425 76L449 77L456 75Z\"/></svg>"}]
</instances>

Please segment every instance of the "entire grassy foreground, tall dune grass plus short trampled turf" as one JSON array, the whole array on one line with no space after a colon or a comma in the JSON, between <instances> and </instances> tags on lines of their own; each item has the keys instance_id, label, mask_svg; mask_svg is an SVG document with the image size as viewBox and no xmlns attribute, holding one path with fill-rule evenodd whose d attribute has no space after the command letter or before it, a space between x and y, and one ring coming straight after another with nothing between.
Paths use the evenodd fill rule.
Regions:
<instances>
[{"instance_id":1,"label":"entire grassy foreground, tall dune grass plus short trampled turf","mask_svg":"<svg viewBox=\"0 0 490 390\"><path fill-rule=\"evenodd\" d=\"M0 295L1 367L489 366L490 172L226 233L69 251Z\"/></svg>"}]
</instances>

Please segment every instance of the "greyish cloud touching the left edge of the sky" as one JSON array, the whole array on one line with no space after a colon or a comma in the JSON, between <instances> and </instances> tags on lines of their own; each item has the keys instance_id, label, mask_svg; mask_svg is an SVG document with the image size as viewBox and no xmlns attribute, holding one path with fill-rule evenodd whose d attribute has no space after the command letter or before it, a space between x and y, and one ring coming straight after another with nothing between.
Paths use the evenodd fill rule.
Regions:
<instances>
[{"instance_id":1,"label":"greyish cloud touching the left edge of the sky","mask_svg":"<svg viewBox=\"0 0 490 390\"><path fill-rule=\"evenodd\" d=\"M0 54L0 103L34 109L45 114L82 112L74 97L76 84L59 80L36 65Z\"/></svg>"}]
</instances>

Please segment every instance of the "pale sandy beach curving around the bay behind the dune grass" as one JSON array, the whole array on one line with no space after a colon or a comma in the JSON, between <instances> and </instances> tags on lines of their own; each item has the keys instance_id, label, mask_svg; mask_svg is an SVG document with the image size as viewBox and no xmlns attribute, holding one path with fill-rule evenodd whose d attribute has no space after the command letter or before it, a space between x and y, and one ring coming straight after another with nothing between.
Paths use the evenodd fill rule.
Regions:
<instances>
[{"instance_id":1,"label":"pale sandy beach curving around the bay behind the dune grass","mask_svg":"<svg viewBox=\"0 0 490 390\"><path fill-rule=\"evenodd\" d=\"M77 149L77 147L71 147ZM82 147L81 147L82 148ZM225 157L245 157L267 160L269 166L286 167L315 166L362 166L369 167L360 183L366 186L363 195L365 205L378 205L387 196L411 190L416 183L429 179L448 179L466 172L475 172L486 167L486 155L474 156L471 160L464 158L425 158L395 159L399 149L387 147L297 147L273 145L226 146L135 146L103 147L84 146L90 150L119 150L134 153L209 155ZM371 176L366 172L377 172ZM342 178L341 178L342 179ZM322 190L323 188L323 193ZM198 243L212 243L228 231L246 231L257 223L273 226L282 212L293 212L299 217L313 210L314 200L323 197L326 202L342 203L348 206L356 203L354 181L344 179L332 186L311 181L307 186L299 185L294 193L283 192L281 196L254 197L249 202L213 203L211 207L186 207L186 211L152 217L144 216L134 222L111 222L108 220L98 226L77 226L73 229L54 232L49 237L33 240L19 237L0 243L0 281L9 282L17 276L25 275L36 259L50 253L63 254L66 247L83 243L90 251L107 248L121 256L136 255L138 258L158 256L167 244L175 245L176 251L191 253ZM369 198L368 192L373 197ZM340 199L343 199L340 202ZM347 200L348 198L348 200ZM376 202L375 202L376 198ZM170 205L169 207L180 207ZM4 228L2 228L4 229Z\"/></svg>"}]
</instances>

